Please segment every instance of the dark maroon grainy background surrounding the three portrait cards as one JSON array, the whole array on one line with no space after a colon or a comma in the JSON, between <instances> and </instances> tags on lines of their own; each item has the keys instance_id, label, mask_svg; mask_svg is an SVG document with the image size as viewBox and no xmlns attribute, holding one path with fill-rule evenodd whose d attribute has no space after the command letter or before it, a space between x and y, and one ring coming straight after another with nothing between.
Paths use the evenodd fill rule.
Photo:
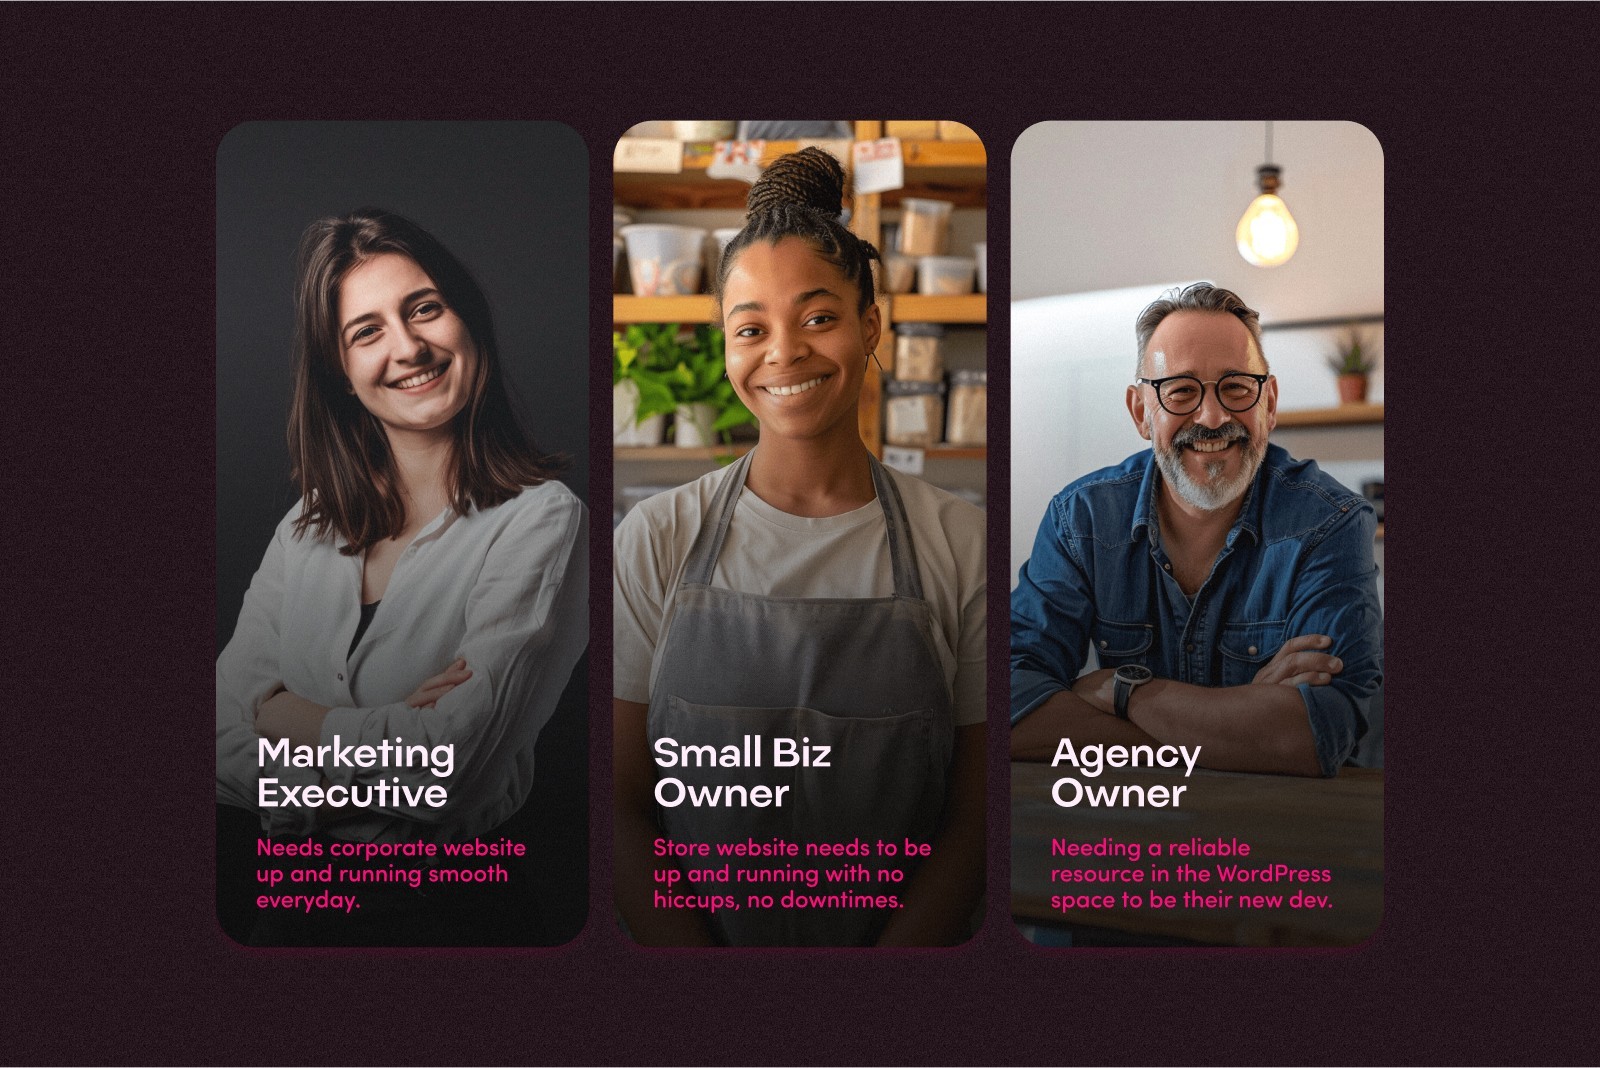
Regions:
<instances>
[{"instance_id":1,"label":"dark maroon grainy background surrounding the three portrait cards","mask_svg":"<svg viewBox=\"0 0 1600 1068\"><path fill-rule=\"evenodd\" d=\"M5 406L6 1060L1592 1062L1597 740L1587 5L11 6ZM1584 30L1582 27L1589 29ZM246 951L211 905L214 165L251 118L1349 118L1387 163L1387 911L1339 951L642 951L610 923L606 692L592 916L547 951ZM1107 166L1115 166L1109 161ZM1181 158L1171 161L1182 166ZM594 397L608 411L603 251ZM1579 285L1579 275L1587 283ZM990 540L1008 353L989 328ZM1584 382L1590 385L1584 385ZM592 419L592 448L608 420ZM1582 446L1589 446L1584 449ZM605 464L592 499L610 499ZM605 508L598 510L605 515ZM608 537L595 524L595 664ZM1005 553L992 616L1003 619ZM1005 628L990 628L995 664ZM603 671L595 671L603 681ZM1005 707L995 673L990 705ZM1587 867L1587 862L1586 865ZM1589 1009L1584 1009L1589 1006Z\"/></svg>"}]
</instances>

